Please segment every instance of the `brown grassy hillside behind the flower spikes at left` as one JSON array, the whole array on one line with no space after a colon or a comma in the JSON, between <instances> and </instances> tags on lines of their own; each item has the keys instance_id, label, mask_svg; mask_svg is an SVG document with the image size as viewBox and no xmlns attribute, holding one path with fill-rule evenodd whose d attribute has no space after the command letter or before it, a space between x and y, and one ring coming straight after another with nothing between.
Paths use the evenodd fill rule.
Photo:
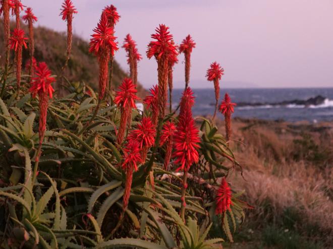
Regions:
<instances>
[{"instance_id":1,"label":"brown grassy hillside behind the flower spikes at left","mask_svg":"<svg viewBox=\"0 0 333 249\"><path fill-rule=\"evenodd\" d=\"M25 25L22 24L28 36L28 30ZM2 27L2 25L1 25ZM13 29L14 27L12 27ZM38 61L45 61L48 67L55 75L61 74L61 68L65 63L66 58L66 33L59 33L50 30L45 27L38 27L34 29L35 37L35 58ZM4 33L0 33L0 49L1 49L1 61L4 60ZM72 56L68 63L65 76L71 82L83 81L94 89L97 89L98 85L98 63L96 57L88 52L89 43L78 36L73 36ZM12 54L12 56L14 56ZM25 65L29 58L29 51L23 50L23 65ZM116 57L117 60L117 57ZM116 86L124 79L128 77L115 61L113 82ZM144 95L144 89L141 85L138 86L139 96Z\"/></svg>"}]
</instances>

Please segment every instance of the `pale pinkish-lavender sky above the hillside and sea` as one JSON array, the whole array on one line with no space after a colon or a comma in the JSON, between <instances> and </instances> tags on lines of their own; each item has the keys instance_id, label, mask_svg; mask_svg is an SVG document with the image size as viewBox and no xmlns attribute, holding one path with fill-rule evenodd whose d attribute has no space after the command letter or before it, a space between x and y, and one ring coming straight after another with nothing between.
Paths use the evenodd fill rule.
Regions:
<instances>
[{"instance_id":1,"label":"pale pinkish-lavender sky above the hillside and sea","mask_svg":"<svg viewBox=\"0 0 333 249\"><path fill-rule=\"evenodd\" d=\"M38 25L65 31L59 17L61 0L22 0L32 7ZM180 43L191 34L193 88L212 87L205 71L212 61L225 69L223 81L259 87L333 87L332 0L73 0L79 13L74 32L88 40L101 10L113 4L121 20L116 26L120 44L130 33L144 59L139 81L156 84L156 62L145 56L150 34L158 24L170 27ZM128 70L125 51L116 59ZM184 56L175 68L175 87L183 87ZM223 84L223 83L222 83Z\"/></svg>"}]
</instances>

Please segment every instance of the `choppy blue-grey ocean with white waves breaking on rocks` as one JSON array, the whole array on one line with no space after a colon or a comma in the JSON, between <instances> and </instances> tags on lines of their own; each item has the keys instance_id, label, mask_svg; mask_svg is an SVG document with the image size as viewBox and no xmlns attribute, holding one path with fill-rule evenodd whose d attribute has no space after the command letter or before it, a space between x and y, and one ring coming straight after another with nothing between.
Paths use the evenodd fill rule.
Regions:
<instances>
[{"instance_id":1,"label":"choppy blue-grey ocean with white waves breaking on rocks","mask_svg":"<svg viewBox=\"0 0 333 249\"><path fill-rule=\"evenodd\" d=\"M174 106L179 103L182 89L174 89ZM194 115L212 115L214 112L214 89L193 89ZM221 89L220 101L225 93L232 102L241 103L235 108L233 117L258 118L310 122L333 121L333 88L286 88L286 89ZM310 98L320 98L320 103L302 103ZM320 98L321 99L321 98ZM220 103L219 101L219 103ZM285 101L285 102L284 102ZM281 103L284 102L284 103ZM219 113L219 116L222 114Z\"/></svg>"}]
</instances>

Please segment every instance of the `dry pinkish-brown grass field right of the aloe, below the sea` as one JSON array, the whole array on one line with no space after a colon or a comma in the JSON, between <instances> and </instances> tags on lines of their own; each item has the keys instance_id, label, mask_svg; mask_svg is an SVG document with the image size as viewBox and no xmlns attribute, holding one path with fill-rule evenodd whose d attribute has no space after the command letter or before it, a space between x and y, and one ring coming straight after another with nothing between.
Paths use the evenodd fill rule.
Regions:
<instances>
[{"instance_id":1,"label":"dry pinkish-brown grass field right of the aloe, below the sea","mask_svg":"<svg viewBox=\"0 0 333 249\"><path fill-rule=\"evenodd\" d=\"M221 121L217 125L224 127ZM298 216L295 229L301 234L333 241L331 128L327 123L233 120L233 138L245 143L231 143L244 178L234 173L229 180L238 190L246 190L244 198L255 206L249 223L283 224L286 210L292 208Z\"/></svg>"}]
</instances>

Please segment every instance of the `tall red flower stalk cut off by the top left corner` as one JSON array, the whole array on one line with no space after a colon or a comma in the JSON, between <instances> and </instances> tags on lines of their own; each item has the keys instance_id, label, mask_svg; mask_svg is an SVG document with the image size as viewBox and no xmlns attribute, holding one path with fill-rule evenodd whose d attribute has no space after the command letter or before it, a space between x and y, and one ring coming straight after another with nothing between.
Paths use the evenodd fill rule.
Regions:
<instances>
[{"instance_id":1,"label":"tall red flower stalk cut off by the top left corner","mask_svg":"<svg viewBox=\"0 0 333 249\"><path fill-rule=\"evenodd\" d=\"M5 72L3 75L3 87L1 89L0 97L3 97L6 89L6 81L8 77L8 67L9 67L9 51L10 51L10 45L9 45L9 38L11 36L10 34L10 27L9 27L9 11L12 8L15 8L12 0L1 0L0 1L1 8L0 8L0 15L3 15L4 17L4 37L5 37L5 51L6 51L6 57L5 57Z\"/></svg>"}]
</instances>

